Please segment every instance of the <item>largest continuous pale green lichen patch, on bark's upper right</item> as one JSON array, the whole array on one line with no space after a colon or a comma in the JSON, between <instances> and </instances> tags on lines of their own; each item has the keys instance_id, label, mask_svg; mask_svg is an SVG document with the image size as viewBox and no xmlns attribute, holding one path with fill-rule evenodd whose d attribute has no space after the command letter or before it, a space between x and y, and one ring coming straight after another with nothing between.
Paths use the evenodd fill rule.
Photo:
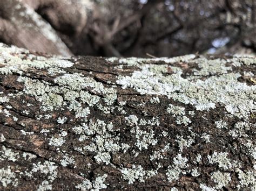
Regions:
<instances>
[{"instance_id":1,"label":"largest continuous pale green lichen patch, on bark's upper right","mask_svg":"<svg viewBox=\"0 0 256 191\"><path fill-rule=\"evenodd\" d=\"M204 58L190 62L198 63L201 67L206 65ZM223 104L234 116L248 118L250 112L256 109L253 102L256 98L256 86L247 86L239 82L239 73L228 73L231 67L225 65L232 60L215 59L209 62L209 66L194 70L196 75L218 74L206 80L198 79L193 74L184 79L181 77L182 72L165 76L161 72L150 70L151 65L145 62L139 63L140 70L134 71L131 76L118 76L117 83L122 85L122 88L131 87L140 94L172 97L175 101L194 105L196 110L210 111L216 107L216 103Z\"/></svg>"}]
</instances>

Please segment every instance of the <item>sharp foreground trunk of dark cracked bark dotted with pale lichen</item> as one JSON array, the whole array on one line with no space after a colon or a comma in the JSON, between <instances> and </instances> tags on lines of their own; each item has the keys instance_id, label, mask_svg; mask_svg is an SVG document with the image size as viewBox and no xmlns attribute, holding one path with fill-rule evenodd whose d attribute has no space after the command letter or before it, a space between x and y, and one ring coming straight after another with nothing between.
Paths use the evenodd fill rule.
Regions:
<instances>
[{"instance_id":1,"label":"sharp foreground trunk of dark cracked bark dotted with pale lichen","mask_svg":"<svg viewBox=\"0 0 256 191\"><path fill-rule=\"evenodd\" d=\"M0 47L0 189L255 189L255 58Z\"/></svg>"}]
</instances>

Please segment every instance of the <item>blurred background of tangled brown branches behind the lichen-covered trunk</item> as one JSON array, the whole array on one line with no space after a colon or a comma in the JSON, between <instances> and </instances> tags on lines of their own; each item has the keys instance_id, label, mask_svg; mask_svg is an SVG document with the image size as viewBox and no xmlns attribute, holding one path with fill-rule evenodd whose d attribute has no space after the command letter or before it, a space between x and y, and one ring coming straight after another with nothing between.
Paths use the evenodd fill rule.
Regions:
<instances>
[{"instance_id":1,"label":"blurred background of tangled brown branches behind the lichen-covered trunk","mask_svg":"<svg viewBox=\"0 0 256 191\"><path fill-rule=\"evenodd\" d=\"M255 54L253 0L1 0L0 41L61 55Z\"/></svg>"}]
</instances>

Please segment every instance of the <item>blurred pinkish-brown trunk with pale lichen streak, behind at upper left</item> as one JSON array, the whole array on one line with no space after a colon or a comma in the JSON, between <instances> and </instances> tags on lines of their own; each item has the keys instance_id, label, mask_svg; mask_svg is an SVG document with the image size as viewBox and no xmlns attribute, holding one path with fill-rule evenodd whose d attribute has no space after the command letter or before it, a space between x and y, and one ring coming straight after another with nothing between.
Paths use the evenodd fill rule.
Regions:
<instances>
[{"instance_id":1,"label":"blurred pinkish-brown trunk with pale lichen streak, behind at upper left","mask_svg":"<svg viewBox=\"0 0 256 191\"><path fill-rule=\"evenodd\" d=\"M63 32L63 36L80 34L93 9L92 3L85 2L3 0L0 2L1 40L31 51L71 56L71 51L56 31Z\"/></svg>"}]
</instances>

